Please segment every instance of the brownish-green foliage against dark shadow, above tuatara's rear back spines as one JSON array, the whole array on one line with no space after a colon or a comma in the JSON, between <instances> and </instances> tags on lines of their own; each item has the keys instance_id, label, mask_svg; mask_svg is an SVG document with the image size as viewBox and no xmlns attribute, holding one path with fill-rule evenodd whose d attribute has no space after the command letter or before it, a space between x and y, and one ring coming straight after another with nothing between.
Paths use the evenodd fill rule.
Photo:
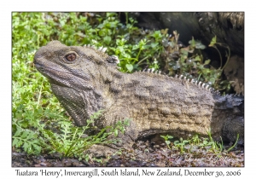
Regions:
<instances>
[{"instance_id":1,"label":"brownish-green foliage against dark shadow, above tuatara's rear back spines","mask_svg":"<svg viewBox=\"0 0 256 179\"><path fill-rule=\"evenodd\" d=\"M218 69L210 65L211 60L204 60L201 50L206 49L200 41L192 40L189 41L189 46L183 47L178 43L179 34L174 31L174 37L166 38L166 61L169 61L169 73L183 74L187 78L194 78L197 81L202 81L216 90L223 90L228 92L230 90L230 82L222 79L222 72L224 67L228 64L230 59L230 48L224 43L217 43L217 38L212 38L209 47L213 47L218 51L220 58L220 66ZM170 41L170 42L168 42ZM225 65L222 65L222 55L220 54L216 45L223 46L228 49L229 53Z\"/></svg>"}]
</instances>

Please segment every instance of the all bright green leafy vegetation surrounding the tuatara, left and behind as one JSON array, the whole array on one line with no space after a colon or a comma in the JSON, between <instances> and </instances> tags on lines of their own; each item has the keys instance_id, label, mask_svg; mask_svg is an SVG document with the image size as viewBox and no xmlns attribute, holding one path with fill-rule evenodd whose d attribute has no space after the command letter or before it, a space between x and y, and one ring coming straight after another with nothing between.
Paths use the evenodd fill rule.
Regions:
<instances>
[{"instance_id":1,"label":"all bright green leafy vegetation surrounding the tuatara, left and behind","mask_svg":"<svg viewBox=\"0 0 256 179\"><path fill-rule=\"evenodd\" d=\"M191 78L206 80L218 87L223 70L206 68L201 49L205 46L192 39L181 48L178 34L171 37L166 30L149 31L134 26L136 20L126 13L125 24L118 13L13 13L12 14L12 138L15 150L28 154L61 153L88 159L81 148L106 140L111 134L124 132L127 121L103 129L96 136L82 138L88 125L74 127L59 101L52 95L49 83L33 66L33 55L51 40L67 45L94 44L108 47L109 55L119 57L120 71L134 72L144 67L160 69L169 74L187 73ZM212 47L216 48L216 39ZM177 56L177 57L175 57ZM223 89L227 88L225 84ZM51 127L49 127L51 126ZM185 144L185 141L182 141ZM178 147L183 145L178 144Z\"/></svg>"}]
</instances>

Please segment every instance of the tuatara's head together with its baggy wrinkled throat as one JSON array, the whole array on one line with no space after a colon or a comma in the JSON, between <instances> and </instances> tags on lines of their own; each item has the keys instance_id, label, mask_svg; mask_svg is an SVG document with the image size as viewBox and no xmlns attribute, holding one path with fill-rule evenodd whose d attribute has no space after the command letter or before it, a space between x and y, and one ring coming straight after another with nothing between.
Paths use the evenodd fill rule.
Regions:
<instances>
[{"instance_id":1,"label":"tuatara's head together with its baggy wrinkled throat","mask_svg":"<svg viewBox=\"0 0 256 179\"><path fill-rule=\"evenodd\" d=\"M49 78L55 96L79 126L85 125L92 113L109 105L104 101L108 94L102 86L113 80L112 73L119 73L119 60L105 54L105 50L52 41L34 56L36 68Z\"/></svg>"}]
</instances>

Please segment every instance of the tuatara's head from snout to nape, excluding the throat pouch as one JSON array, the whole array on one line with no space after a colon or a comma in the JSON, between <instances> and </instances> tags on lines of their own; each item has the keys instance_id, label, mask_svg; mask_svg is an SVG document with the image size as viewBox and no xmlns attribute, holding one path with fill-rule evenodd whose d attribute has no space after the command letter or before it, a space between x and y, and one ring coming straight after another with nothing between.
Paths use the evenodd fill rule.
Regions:
<instances>
[{"instance_id":1,"label":"tuatara's head from snout to nape, excluding the throat pouch","mask_svg":"<svg viewBox=\"0 0 256 179\"><path fill-rule=\"evenodd\" d=\"M100 79L102 68L99 65L113 71L119 63L116 56L108 56L105 50L90 45L66 46L59 41L52 41L38 49L34 64L39 72L49 78L51 84L76 90L92 89L93 78Z\"/></svg>"}]
</instances>

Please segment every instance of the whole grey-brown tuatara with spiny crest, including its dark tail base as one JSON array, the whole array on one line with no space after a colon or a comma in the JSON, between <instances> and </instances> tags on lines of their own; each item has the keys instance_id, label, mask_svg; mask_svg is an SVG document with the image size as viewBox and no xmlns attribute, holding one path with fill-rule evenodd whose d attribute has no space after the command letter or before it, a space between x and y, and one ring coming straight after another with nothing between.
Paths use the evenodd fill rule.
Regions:
<instances>
[{"instance_id":1,"label":"whole grey-brown tuatara with spiny crest, including its dark tail base","mask_svg":"<svg viewBox=\"0 0 256 179\"><path fill-rule=\"evenodd\" d=\"M38 49L34 64L49 78L51 88L78 126L92 113L104 109L96 126L103 128L131 118L120 136L120 146L131 146L137 137L170 133L243 141L243 98L220 96L206 84L154 72L126 74L118 59L90 46L68 47L52 41ZM118 147L117 147L118 148ZM97 150L97 149L96 149ZM114 150L113 150L114 151Z\"/></svg>"}]
</instances>

